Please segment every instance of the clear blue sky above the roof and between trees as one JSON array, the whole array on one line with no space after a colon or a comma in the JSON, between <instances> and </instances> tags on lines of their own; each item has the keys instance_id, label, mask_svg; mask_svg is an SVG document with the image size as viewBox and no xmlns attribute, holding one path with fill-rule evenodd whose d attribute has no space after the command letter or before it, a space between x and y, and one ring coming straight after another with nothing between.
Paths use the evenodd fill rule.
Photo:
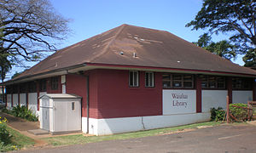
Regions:
<instances>
[{"instance_id":1,"label":"clear blue sky above the roof and between trees","mask_svg":"<svg viewBox=\"0 0 256 153\"><path fill-rule=\"evenodd\" d=\"M70 21L72 31L57 48L66 48L76 42L93 37L122 24L143 26L147 28L169 31L177 37L189 42L196 42L207 30L191 31L185 27L201 10L201 0L49 0L56 12ZM228 36L213 36L217 42L228 39ZM235 63L243 65L241 56ZM36 63L26 63L34 65ZM24 68L14 67L8 74Z\"/></svg>"}]
</instances>

